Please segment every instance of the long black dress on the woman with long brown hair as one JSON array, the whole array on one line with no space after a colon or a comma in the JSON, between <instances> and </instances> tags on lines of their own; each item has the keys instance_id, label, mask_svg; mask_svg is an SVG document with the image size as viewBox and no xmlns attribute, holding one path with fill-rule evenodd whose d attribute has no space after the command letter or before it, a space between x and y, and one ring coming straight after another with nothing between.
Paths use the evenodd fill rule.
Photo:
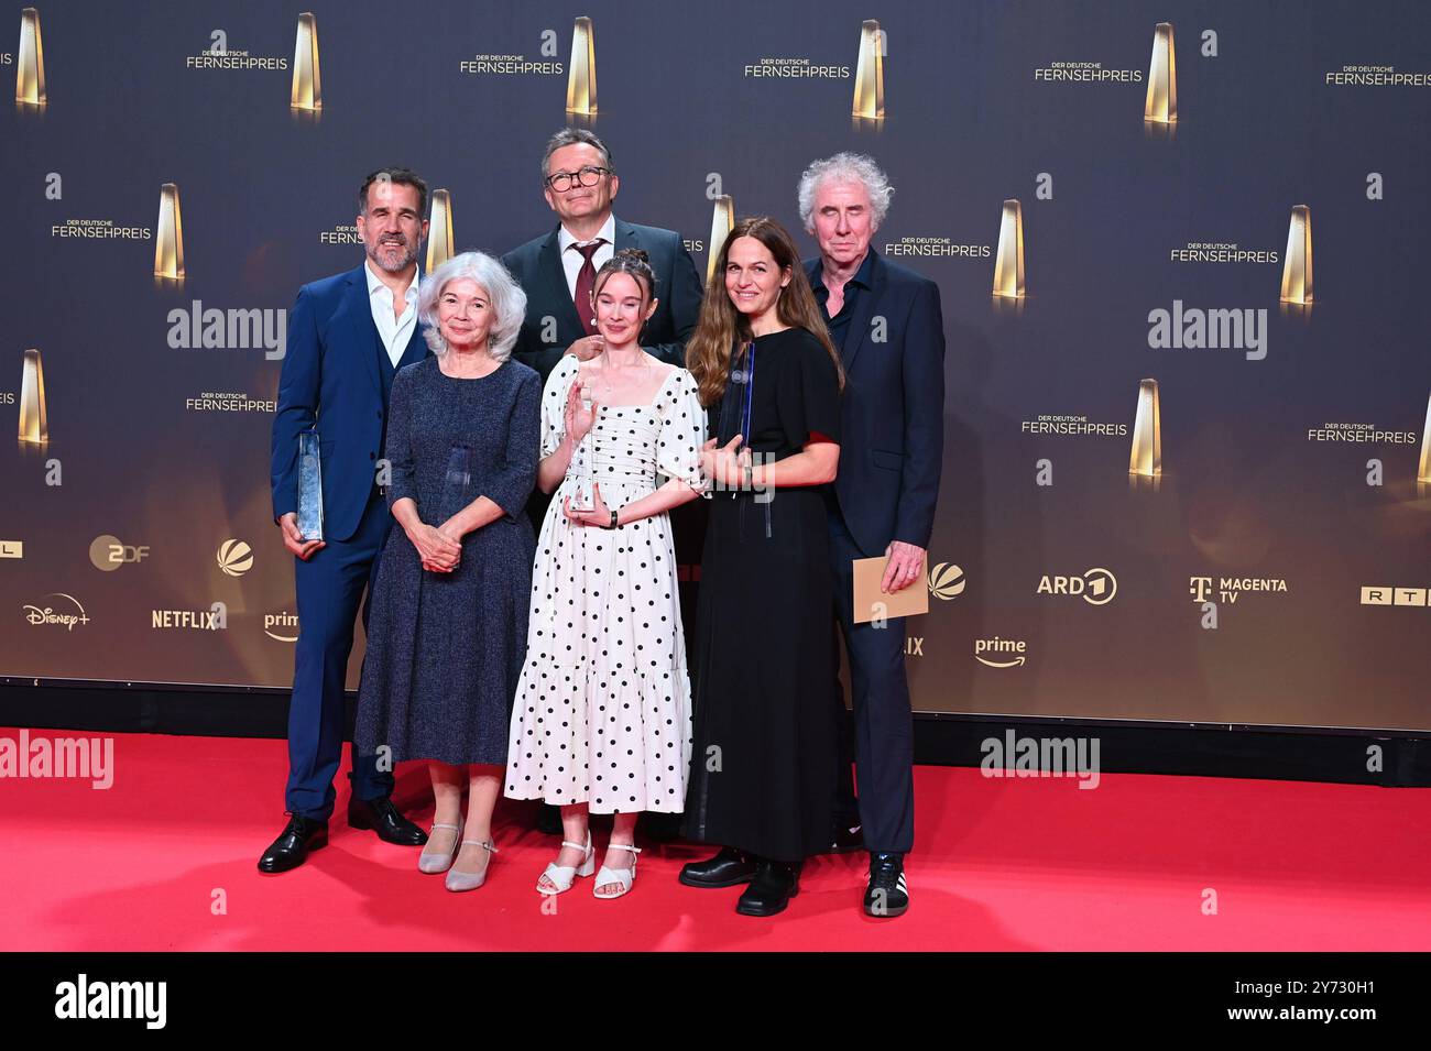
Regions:
<instances>
[{"instance_id":1,"label":"long black dress on the woman with long brown hair","mask_svg":"<svg viewBox=\"0 0 1431 1051\"><path fill-rule=\"evenodd\" d=\"M754 453L781 460L811 433L840 440L836 366L804 329L756 339L733 376L711 408L720 445L748 433ZM787 862L829 851L837 764L829 533L820 486L711 496L685 795L693 839Z\"/></svg>"}]
</instances>

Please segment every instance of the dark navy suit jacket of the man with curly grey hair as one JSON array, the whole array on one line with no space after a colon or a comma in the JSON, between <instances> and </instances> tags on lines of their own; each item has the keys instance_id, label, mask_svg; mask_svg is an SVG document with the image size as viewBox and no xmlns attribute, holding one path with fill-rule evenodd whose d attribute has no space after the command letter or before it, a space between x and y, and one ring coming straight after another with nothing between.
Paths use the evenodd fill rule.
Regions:
<instances>
[{"instance_id":1,"label":"dark navy suit jacket of the man with curly grey hair","mask_svg":"<svg viewBox=\"0 0 1431 1051\"><path fill-rule=\"evenodd\" d=\"M939 286L874 249L844 340L834 493L867 558L890 541L929 548L944 459L944 319ZM820 259L807 259L811 283ZM883 319L884 342L874 337Z\"/></svg>"}]
</instances>

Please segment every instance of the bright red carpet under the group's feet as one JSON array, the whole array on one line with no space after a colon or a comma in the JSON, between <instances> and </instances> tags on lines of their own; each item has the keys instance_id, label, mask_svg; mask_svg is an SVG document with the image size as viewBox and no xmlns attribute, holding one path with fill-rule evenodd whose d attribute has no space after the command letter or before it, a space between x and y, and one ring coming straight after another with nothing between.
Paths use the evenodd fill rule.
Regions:
<instances>
[{"instance_id":1,"label":"bright red carpet under the group's feet","mask_svg":"<svg viewBox=\"0 0 1431 1051\"><path fill-rule=\"evenodd\" d=\"M738 889L675 882L705 852L690 845L647 849L620 901L578 879L544 915L532 885L555 842L525 804L498 808L487 887L448 894L416 849L345 827L346 779L329 845L265 877L253 865L283 825L285 775L282 741L117 735L107 791L4 778L0 948L1431 948L1422 789L1103 775L1088 791L922 766L907 915L864 917L863 855L846 855L809 864L790 909L754 919L736 915ZM431 819L421 765L399 769L396 798Z\"/></svg>"}]
</instances>

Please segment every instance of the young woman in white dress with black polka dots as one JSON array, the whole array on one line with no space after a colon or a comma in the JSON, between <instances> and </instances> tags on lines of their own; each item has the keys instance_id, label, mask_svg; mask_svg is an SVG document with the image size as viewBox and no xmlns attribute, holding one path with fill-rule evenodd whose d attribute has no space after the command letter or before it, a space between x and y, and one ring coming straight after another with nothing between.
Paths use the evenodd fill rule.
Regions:
<instances>
[{"instance_id":1,"label":"young woman in white dress with black polka dots","mask_svg":"<svg viewBox=\"0 0 1431 1051\"><path fill-rule=\"evenodd\" d=\"M641 349L654 286L637 249L602 266L592 302L605 349L564 357L542 392L538 485L557 495L537 541L507 752L507 795L561 806L562 849L541 894L591 875L588 814L614 814L592 891L621 897L637 816L685 804L691 688L667 510L700 495L705 412L685 369Z\"/></svg>"}]
</instances>

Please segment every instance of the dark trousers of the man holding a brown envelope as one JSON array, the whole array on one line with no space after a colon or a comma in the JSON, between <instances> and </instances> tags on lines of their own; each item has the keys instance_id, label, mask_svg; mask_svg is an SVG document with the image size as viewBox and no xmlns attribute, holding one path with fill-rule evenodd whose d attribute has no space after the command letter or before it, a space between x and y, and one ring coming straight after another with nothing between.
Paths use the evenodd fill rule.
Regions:
<instances>
[{"instance_id":1,"label":"dark trousers of the man holding a brown envelope","mask_svg":"<svg viewBox=\"0 0 1431 1051\"><path fill-rule=\"evenodd\" d=\"M883 628L854 623L854 571L866 558L839 509L830 510L830 562L834 573L834 613L850 658L853 734L844 712L836 649L834 701L840 706L840 774L836 814L853 824L853 762L859 776L859 824L871 852L907 854L914 845L914 719L904 676L904 618ZM919 585L912 585L919 586Z\"/></svg>"}]
</instances>

